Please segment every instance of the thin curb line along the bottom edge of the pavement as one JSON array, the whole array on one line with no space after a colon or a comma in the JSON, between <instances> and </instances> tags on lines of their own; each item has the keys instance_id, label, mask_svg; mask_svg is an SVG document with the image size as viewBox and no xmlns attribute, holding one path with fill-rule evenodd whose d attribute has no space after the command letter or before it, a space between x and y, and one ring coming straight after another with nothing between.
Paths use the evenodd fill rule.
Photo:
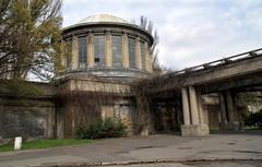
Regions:
<instances>
[{"instance_id":1,"label":"thin curb line along the bottom edge of the pavement","mask_svg":"<svg viewBox=\"0 0 262 167\"><path fill-rule=\"evenodd\" d=\"M262 158L195 158L195 159L148 159L148 160L127 160L127 162L98 162L98 163L58 163L43 164L28 167L97 167L97 166L128 166L138 164L162 164L162 163L201 163L201 162L261 162Z\"/></svg>"}]
</instances>

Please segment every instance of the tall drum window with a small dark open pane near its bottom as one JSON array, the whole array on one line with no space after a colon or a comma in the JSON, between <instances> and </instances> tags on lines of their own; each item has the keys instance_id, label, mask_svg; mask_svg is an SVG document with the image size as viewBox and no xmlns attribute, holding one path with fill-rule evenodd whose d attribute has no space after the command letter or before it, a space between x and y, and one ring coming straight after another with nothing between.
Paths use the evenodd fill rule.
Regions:
<instances>
[{"instance_id":1,"label":"tall drum window with a small dark open pane near its bottom","mask_svg":"<svg viewBox=\"0 0 262 167\"><path fill-rule=\"evenodd\" d=\"M95 64L105 65L105 35L95 35L94 39Z\"/></svg>"}]
</instances>

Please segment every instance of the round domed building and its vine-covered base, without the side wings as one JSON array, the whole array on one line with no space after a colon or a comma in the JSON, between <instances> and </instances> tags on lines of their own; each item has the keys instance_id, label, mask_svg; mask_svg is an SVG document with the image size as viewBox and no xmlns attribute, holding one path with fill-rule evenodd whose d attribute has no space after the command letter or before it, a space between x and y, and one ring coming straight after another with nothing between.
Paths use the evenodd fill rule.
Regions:
<instances>
[{"instance_id":1,"label":"round domed building and its vine-covered base, without the side wings","mask_svg":"<svg viewBox=\"0 0 262 167\"><path fill-rule=\"evenodd\" d=\"M70 138L80 123L99 117L120 119L133 134L131 85L152 73L152 35L120 17L98 14L63 28L62 37L69 56L56 77L62 87L57 135Z\"/></svg>"}]
</instances>

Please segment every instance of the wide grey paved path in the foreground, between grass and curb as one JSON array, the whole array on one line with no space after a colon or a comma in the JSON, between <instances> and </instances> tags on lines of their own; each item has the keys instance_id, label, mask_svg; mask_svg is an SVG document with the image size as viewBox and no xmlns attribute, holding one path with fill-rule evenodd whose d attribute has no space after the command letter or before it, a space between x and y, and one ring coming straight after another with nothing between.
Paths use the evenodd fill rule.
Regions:
<instances>
[{"instance_id":1,"label":"wide grey paved path in the foreground, between grass and curb","mask_svg":"<svg viewBox=\"0 0 262 167\"><path fill-rule=\"evenodd\" d=\"M262 159L262 133L182 138L158 134L41 151L0 153L0 167L155 159Z\"/></svg>"}]
</instances>

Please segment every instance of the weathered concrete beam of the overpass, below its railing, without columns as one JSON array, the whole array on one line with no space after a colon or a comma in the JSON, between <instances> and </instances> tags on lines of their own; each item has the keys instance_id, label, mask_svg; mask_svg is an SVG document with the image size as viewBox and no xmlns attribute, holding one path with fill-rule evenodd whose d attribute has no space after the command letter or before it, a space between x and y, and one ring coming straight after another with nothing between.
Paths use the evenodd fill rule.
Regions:
<instances>
[{"instance_id":1,"label":"weathered concrete beam of the overpass, below its railing, without columns","mask_svg":"<svg viewBox=\"0 0 262 167\"><path fill-rule=\"evenodd\" d=\"M199 71L188 71L184 73L168 73L159 76L162 86L158 88L148 87L150 93L164 92L170 88L198 85L202 92L212 93L230 87L241 87L262 84L262 56L249 57L237 61L209 67ZM186 70L187 71L187 70ZM245 82L239 82L245 80ZM226 84L223 84L226 83ZM228 87L228 86L229 87ZM213 88L215 87L215 88Z\"/></svg>"}]
</instances>

